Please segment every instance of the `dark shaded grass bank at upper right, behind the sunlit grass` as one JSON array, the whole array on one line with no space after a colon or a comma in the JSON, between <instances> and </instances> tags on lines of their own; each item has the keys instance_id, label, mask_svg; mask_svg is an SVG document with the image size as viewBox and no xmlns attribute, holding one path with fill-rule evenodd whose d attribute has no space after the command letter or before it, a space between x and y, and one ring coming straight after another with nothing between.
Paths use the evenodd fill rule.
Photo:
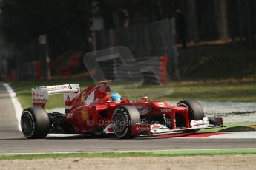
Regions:
<instances>
[{"instance_id":1,"label":"dark shaded grass bank at upper right, behind the sunlit grass","mask_svg":"<svg viewBox=\"0 0 256 170\"><path fill-rule=\"evenodd\" d=\"M182 78L244 78L256 75L256 50L234 44L214 44L180 50Z\"/></svg>"}]
</instances>

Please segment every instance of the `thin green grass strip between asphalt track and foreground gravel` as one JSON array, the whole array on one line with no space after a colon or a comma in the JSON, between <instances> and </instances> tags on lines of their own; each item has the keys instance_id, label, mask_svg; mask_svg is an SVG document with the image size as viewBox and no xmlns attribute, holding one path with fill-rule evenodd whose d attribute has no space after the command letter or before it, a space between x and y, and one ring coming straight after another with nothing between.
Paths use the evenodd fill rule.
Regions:
<instances>
[{"instance_id":1,"label":"thin green grass strip between asphalt track and foreground gravel","mask_svg":"<svg viewBox=\"0 0 256 170\"><path fill-rule=\"evenodd\" d=\"M44 158L66 157L177 157L196 155L256 154L256 149L202 149L202 150L166 150L166 151L134 151L134 152L82 152L64 154L0 154L0 160L34 160Z\"/></svg>"}]
</instances>

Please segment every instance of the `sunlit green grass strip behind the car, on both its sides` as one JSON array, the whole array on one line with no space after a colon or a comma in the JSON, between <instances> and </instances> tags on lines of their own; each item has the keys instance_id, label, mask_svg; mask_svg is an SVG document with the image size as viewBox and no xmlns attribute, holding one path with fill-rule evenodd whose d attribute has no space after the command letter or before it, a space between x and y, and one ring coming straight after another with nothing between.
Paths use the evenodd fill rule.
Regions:
<instances>
[{"instance_id":1,"label":"sunlit green grass strip behind the car, on both its sides","mask_svg":"<svg viewBox=\"0 0 256 170\"><path fill-rule=\"evenodd\" d=\"M81 89L88 85L93 85L92 81L15 81L10 83L16 92L17 98L23 108L31 106L31 88L36 86L49 86L54 84L80 84ZM256 101L256 82L215 82L215 81L193 81L177 82L168 86L140 86L119 88L113 86L116 92L131 100L140 100L143 95L147 95L151 100L159 101L180 101L184 98L194 98L197 101ZM159 95L164 95L159 97ZM158 96L158 97L157 97ZM63 106L62 95L50 95L50 100L46 109Z\"/></svg>"}]
</instances>

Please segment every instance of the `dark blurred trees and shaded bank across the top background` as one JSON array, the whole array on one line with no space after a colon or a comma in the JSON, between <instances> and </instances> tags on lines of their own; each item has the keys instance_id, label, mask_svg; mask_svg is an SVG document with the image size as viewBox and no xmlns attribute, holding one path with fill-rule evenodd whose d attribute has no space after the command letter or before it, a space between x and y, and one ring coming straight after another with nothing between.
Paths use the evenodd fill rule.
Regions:
<instances>
[{"instance_id":1,"label":"dark blurred trees and shaded bank across the top background","mask_svg":"<svg viewBox=\"0 0 256 170\"><path fill-rule=\"evenodd\" d=\"M70 62L74 53L96 50L93 30L174 18L180 9L188 44L188 50L177 46L182 78L255 76L254 0L1 0L0 9L0 65L8 61L0 72L8 75L19 64L40 59L32 47L39 35L47 35L50 60L65 67L63 61ZM94 27L95 21L102 26ZM209 43L219 40L217 46ZM86 71L81 64L74 70Z\"/></svg>"}]
</instances>

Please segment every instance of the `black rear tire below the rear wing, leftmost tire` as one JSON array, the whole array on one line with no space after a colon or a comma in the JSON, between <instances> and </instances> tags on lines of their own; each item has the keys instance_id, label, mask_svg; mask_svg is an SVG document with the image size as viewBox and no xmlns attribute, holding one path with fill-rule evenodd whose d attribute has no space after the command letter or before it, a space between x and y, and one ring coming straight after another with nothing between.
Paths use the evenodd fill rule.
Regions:
<instances>
[{"instance_id":1,"label":"black rear tire below the rear wing, leftmost tire","mask_svg":"<svg viewBox=\"0 0 256 170\"><path fill-rule=\"evenodd\" d=\"M42 107L30 107L22 112L21 125L27 139L42 139L49 132L50 118Z\"/></svg>"}]
</instances>

